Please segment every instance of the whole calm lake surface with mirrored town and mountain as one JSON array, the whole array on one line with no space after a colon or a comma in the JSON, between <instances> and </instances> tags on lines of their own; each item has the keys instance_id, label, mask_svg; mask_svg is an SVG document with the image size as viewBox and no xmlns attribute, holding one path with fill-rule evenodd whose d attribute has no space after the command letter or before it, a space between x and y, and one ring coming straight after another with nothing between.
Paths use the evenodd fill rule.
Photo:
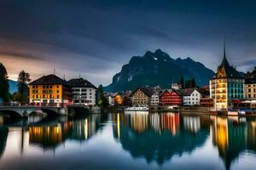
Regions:
<instances>
[{"instance_id":1,"label":"whole calm lake surface with mirrored town and mountain","mask_svg":"<svg viewBox=\"0 0 256 170\"><path fill-rule=\"evenodd\" d=\"M256 169L256 119L90 115L0 118L0 169Z\"/></svg>"}]
</instances>

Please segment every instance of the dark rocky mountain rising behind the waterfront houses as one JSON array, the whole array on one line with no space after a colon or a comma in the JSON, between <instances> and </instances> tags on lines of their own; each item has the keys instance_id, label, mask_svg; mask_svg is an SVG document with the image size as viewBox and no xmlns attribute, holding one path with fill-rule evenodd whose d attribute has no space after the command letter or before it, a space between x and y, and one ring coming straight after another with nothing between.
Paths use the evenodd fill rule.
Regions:
<instances>
[{"instance_id":1,"label":"dark rocky mountain rising behind the waterfront houses","mask_svg":"<svg viewBox=\"0 0 256 170\"><path fill-rule=\"evenodd\" d=\"M154 53L147 51L143 56L132 57L104 90L116 92L140 86L170 88L172 82L179 82L182 75L184 80L194 77L196 84L201 86L209 83L214 72L193 59L172 59L157 49Z\"/></svg>"}]
</instances>

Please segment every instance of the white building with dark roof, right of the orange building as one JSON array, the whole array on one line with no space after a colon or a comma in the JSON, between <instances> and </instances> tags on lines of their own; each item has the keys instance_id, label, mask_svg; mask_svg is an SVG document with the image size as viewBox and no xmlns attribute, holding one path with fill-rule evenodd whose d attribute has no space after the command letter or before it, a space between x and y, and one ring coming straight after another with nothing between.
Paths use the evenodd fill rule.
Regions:
<instances>
[{"instance_id":1,"label":"white building with dark roof, right of the orange building","mask_svg":"<svg viewBox=\"0 0 256 170\"><path fill-rule=\"evenodd\" d=\"M73 105L96 105L97 88L84 78L74 78L67 82L72 88Z\"/></svg>"}]
</instances>

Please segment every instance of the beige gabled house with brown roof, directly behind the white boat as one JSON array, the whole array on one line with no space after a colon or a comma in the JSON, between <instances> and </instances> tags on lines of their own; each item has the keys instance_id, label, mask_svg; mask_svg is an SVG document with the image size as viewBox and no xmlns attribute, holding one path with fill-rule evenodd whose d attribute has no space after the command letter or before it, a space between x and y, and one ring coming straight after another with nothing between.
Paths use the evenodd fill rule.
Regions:
<instances>
[{"instance_id":1,"label":"beige gabled house with brown roof, directly behind the white boat","mask_svg":"<svg viewBox=\"0 0 256 170\"><path fill-rule=\"evenodd\" d=\"M134 106L150 105L152 92L148 88L137 88L131 94L131 103Z\"/></svg>"}]
</instances>

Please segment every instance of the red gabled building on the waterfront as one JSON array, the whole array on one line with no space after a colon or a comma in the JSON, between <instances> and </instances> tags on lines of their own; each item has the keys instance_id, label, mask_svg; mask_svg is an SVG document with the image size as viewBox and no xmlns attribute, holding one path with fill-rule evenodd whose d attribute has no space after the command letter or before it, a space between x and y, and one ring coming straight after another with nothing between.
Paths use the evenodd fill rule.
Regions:
<instances>
[{"instance_id":1,"label":"red gabled building on the waterfront","mask_svg":"<svg viewBox=\"0 0 256 170\"><path fill-rule=\"evenodd\" d=\"M160 94L160 105L182 105L183 96L177 90L166 90Z\"/></svg>"}]
</instances>

